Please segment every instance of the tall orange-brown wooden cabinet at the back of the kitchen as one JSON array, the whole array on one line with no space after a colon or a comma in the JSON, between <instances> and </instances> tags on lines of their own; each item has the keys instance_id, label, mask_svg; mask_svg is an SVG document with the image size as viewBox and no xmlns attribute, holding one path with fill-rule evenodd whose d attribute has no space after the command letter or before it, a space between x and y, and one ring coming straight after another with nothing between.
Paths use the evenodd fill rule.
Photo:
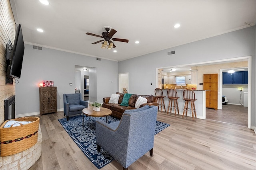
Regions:
<instances>
[{"instance_id":1,"label":"tall orange-brown wooden cabinet at the back of the kitchen","mask_svg":"<svg viewBox=\"0 0 256 170\"><path fill-rule=\"evenodd\" d=\"M218 109L218 74L204 74L204 90L206 91L206 107Z\"/></svg>"}]
</instances>

